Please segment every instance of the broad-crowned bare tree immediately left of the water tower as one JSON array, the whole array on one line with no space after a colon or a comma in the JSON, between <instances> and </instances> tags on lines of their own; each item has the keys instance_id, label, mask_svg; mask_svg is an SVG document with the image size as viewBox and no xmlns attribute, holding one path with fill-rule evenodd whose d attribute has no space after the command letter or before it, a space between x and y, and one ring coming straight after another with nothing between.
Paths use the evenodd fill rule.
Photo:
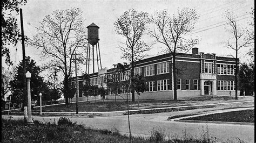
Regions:
<instances>
[{"instance_id":1,"label":"broad-crowned bare tree immediately left of the water tower","mask_svg":"<svg viewBox=\"0 0 256 143\"><path fill-rule=\"evenodd\" d=\"M64 76L63 94L65 104L68 105L69 77L72 75L75 61L75 51L85 52L86 28L82 11L80 9L56 10L51 15L46 16L37 27L38 34L33 37L31 44L38 49L42 49L42 58L46 61L46 69L56 68ZM77 61L83 61L83 56L79 55Z\"/></svg>"}]
</instances>

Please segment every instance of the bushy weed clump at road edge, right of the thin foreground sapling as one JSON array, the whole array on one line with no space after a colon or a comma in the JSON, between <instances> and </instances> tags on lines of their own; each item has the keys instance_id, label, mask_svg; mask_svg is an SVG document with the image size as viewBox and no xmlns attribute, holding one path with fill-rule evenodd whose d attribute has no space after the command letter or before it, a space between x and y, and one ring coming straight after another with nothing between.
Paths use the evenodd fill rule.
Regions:
<instances>
[{"instance_id":1,"label":"bushy weed clump at road edge, right of the thin foreground sapling","mask_svg":"<svg viewBox=\"0 0 256 143\"><path fill-rule=\"evenodd\" d=\"M165 128L161 129L159 126L156 128L152 128L152 130L150 131L150 141L154 141L154 142L161 142L165 140Z\"/></svg>"}]
</instances>

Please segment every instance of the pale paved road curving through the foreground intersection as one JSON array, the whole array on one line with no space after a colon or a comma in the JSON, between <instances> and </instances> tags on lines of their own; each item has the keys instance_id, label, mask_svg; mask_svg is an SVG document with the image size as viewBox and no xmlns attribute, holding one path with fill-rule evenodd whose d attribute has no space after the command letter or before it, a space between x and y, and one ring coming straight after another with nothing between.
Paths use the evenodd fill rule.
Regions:
<instances>
[{"instance_id":1,"label":"pale paved road curving through the foreground intersection","mask_svg":"<svg viewBox=\"0 0 256 143\"><path fill-rule=\"evenodd\" d=\"M193 112L191 111L178 111L180 112ZM173 112L172 112L173 113ZM218 141L235 141L238 137L245 142L254 142L254 126L253 125L236 125L236 124L213 124L213 123L183 123L177 121L168 121L167 117L171 113L156 113L150 115L131 115L131 132L133 135L149 135L153 127L160 127L165 129L167 135L170 137L193 137L201 138L203 134L208 131L209 137L217 137ZM6 116L2 116L6 118ZM15 119L22 116L12 116ZM52 122L58 120L59 117L36 117L33 119ZM90 126L93 128L111 130L117 128L120 133L129 133L127 116L111 116L111 117L97 117L97 118L82 118L72 117L72 121L77 121L78 124ZM206 129L208 128L208 129Z\"/></svg>"}]
</instances>

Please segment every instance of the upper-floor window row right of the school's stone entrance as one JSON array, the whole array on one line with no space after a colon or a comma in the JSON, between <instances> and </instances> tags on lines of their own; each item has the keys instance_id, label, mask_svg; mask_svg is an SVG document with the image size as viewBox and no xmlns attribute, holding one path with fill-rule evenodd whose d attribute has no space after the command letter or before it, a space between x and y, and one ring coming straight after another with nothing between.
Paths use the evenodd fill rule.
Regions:
<instances>
[{"instance_id":1,"label":"upper-floor window row right of the school's stone entrance","mask_svg":"<svg viewBox=\"0 0 256 143\"><path fill-rule=\"evenodd\" d=\"M235 75L235 65L217 64L217 74Z\"/></svg>"}]
</instances>

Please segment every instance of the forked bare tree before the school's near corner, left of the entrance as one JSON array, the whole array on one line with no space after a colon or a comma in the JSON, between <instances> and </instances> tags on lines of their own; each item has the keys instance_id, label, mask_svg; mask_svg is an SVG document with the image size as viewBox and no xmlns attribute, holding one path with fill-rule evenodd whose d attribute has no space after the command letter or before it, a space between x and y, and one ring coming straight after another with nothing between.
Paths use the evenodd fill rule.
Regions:
<instances>
[{"instance_id":1,"label":"forked bare tree before the school's near corner, left of the entrance","mask_svg":"<svg viewBox=\"0 0 256 143\"><path fill-rule=\"evenodd\" d=\"M179 53L188 52L199 42L198 38L188 37L187 34L193 31L198 19L195 9L178 9L176 15L171 17L167 10L158 11L153 16L152 23L156 26L150 35L166 46L167 51L172 55L172 72L174 81L174 100L177 100L177 68L176 56ZM186 37L187 36L187 37Z\"/></svg>"}]
</instances>

